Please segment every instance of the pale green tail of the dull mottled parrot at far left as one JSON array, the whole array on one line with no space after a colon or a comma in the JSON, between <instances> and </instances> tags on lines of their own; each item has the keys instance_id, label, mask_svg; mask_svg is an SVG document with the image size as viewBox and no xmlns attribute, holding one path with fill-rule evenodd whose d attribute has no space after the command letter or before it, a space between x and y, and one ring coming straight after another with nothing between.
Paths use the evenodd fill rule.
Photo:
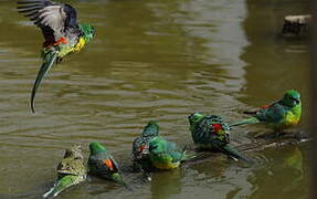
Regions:
<instances>
[{"instance_id":1,"label":"pale green tail of the dull mottled parrot at far left","mask_svg":"<svg viewBox=\"0 0 317 199\"><path fill-rule=\"evenodd\" d=\"M56 197L66 188L77 185L85 180L85 177L67 175L59 179L54 187L43 195L43 198Z\"/></svg>"}]
</instances>

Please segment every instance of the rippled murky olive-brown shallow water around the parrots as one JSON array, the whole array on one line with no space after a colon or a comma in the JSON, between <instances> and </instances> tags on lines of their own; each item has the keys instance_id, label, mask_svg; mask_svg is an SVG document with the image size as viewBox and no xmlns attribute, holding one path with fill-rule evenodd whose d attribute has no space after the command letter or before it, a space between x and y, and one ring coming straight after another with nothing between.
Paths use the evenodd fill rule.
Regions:
<instances>
[{"instance_id":1,"label":"rippled murky olive-brown shallow water around the parrots","mask_svg":"<svg viewBox=\"0 0 317 199\"><path fill-rule=\"evenodd\" d=\"M82 22L97 29L80 54L54 66L29 108L42 35L0 1L0 198L39 198L55 177L63 149L103 142L130 164L133 139L149 119L180 146L191 143L187 115L204 112L244 118L243 109L296 88L309 115L309 51L305 39L278 34L286 14L306 13L295 0L72 0ZM249 143L263 126L239 127ZM134 190L92 179L61 198L308 198L307 144L260 151L247 167L216 158L154 174ZM296 164L289 159L296 159Z\"/></svg>"}]
</instances>

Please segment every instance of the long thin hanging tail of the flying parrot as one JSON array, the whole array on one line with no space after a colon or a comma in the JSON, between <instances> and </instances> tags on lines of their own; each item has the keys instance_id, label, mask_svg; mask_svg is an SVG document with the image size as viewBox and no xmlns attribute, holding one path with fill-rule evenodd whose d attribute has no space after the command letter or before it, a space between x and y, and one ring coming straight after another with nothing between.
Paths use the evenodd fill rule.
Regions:
<instances>
[{"instance_id":1,"label":"long thin hanging tail of the flying parrot","mask_svg":"<svg viewBox=\"0 0 317 199\"><path fill-rule=\"evenodd\" d=\"M40 71L38 73L35 82L33 84L32 94L31 94L31 109L32 109L32 113L35 113L34 98L35 98L36 90L40 86L42 78L46 75L46 73L50 71L50 69L54 64L56 57L57 57L57 52L55 52L55 51L49 51L47 53L45 53L43 55L43 60L44 61L43 61L42 66L40 67Z\"/></svg>"}]
</instances>

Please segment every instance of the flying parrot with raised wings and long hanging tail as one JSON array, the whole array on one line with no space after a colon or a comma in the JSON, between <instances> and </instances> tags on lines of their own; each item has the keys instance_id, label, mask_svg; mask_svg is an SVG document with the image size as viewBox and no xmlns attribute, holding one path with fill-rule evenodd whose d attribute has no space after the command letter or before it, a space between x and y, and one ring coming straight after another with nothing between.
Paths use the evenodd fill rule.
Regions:
<instances>
[{"instance_id":1,"label":"flying parrot with raised wings and long hanging tail","mask_svg":"<svg viewBox=\"0 0 317 199\"><path fill-rule=\"evenodd\" d=\"M80 52L95 35L89 24L77 23L76 10L70 4L51 0L20 0L18 10L34 21L43 33L43 64L40 67L31 94L31 109L34 113L36 90L54 62L60 63L64 56Z\"/></svg>"}]
</instances>

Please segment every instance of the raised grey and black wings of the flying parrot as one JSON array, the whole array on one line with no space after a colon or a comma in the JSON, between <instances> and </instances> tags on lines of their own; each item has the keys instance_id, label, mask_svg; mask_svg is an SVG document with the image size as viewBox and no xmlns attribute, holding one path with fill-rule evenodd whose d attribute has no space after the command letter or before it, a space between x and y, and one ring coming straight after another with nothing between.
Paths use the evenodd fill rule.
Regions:
<instances>
[{"instance_id":1,"label":"raised grey and black wings of the flying parrot","mask_svg":"<svg viewBox=\"0 0 317 199\"><path fill-rule=\"evenodd\" d=\"M20 0L18 10L41 28L46 44L65 36L67 28L76 27L76 11L70 4L51 0Z\"/></svg>"}]
</instances>

